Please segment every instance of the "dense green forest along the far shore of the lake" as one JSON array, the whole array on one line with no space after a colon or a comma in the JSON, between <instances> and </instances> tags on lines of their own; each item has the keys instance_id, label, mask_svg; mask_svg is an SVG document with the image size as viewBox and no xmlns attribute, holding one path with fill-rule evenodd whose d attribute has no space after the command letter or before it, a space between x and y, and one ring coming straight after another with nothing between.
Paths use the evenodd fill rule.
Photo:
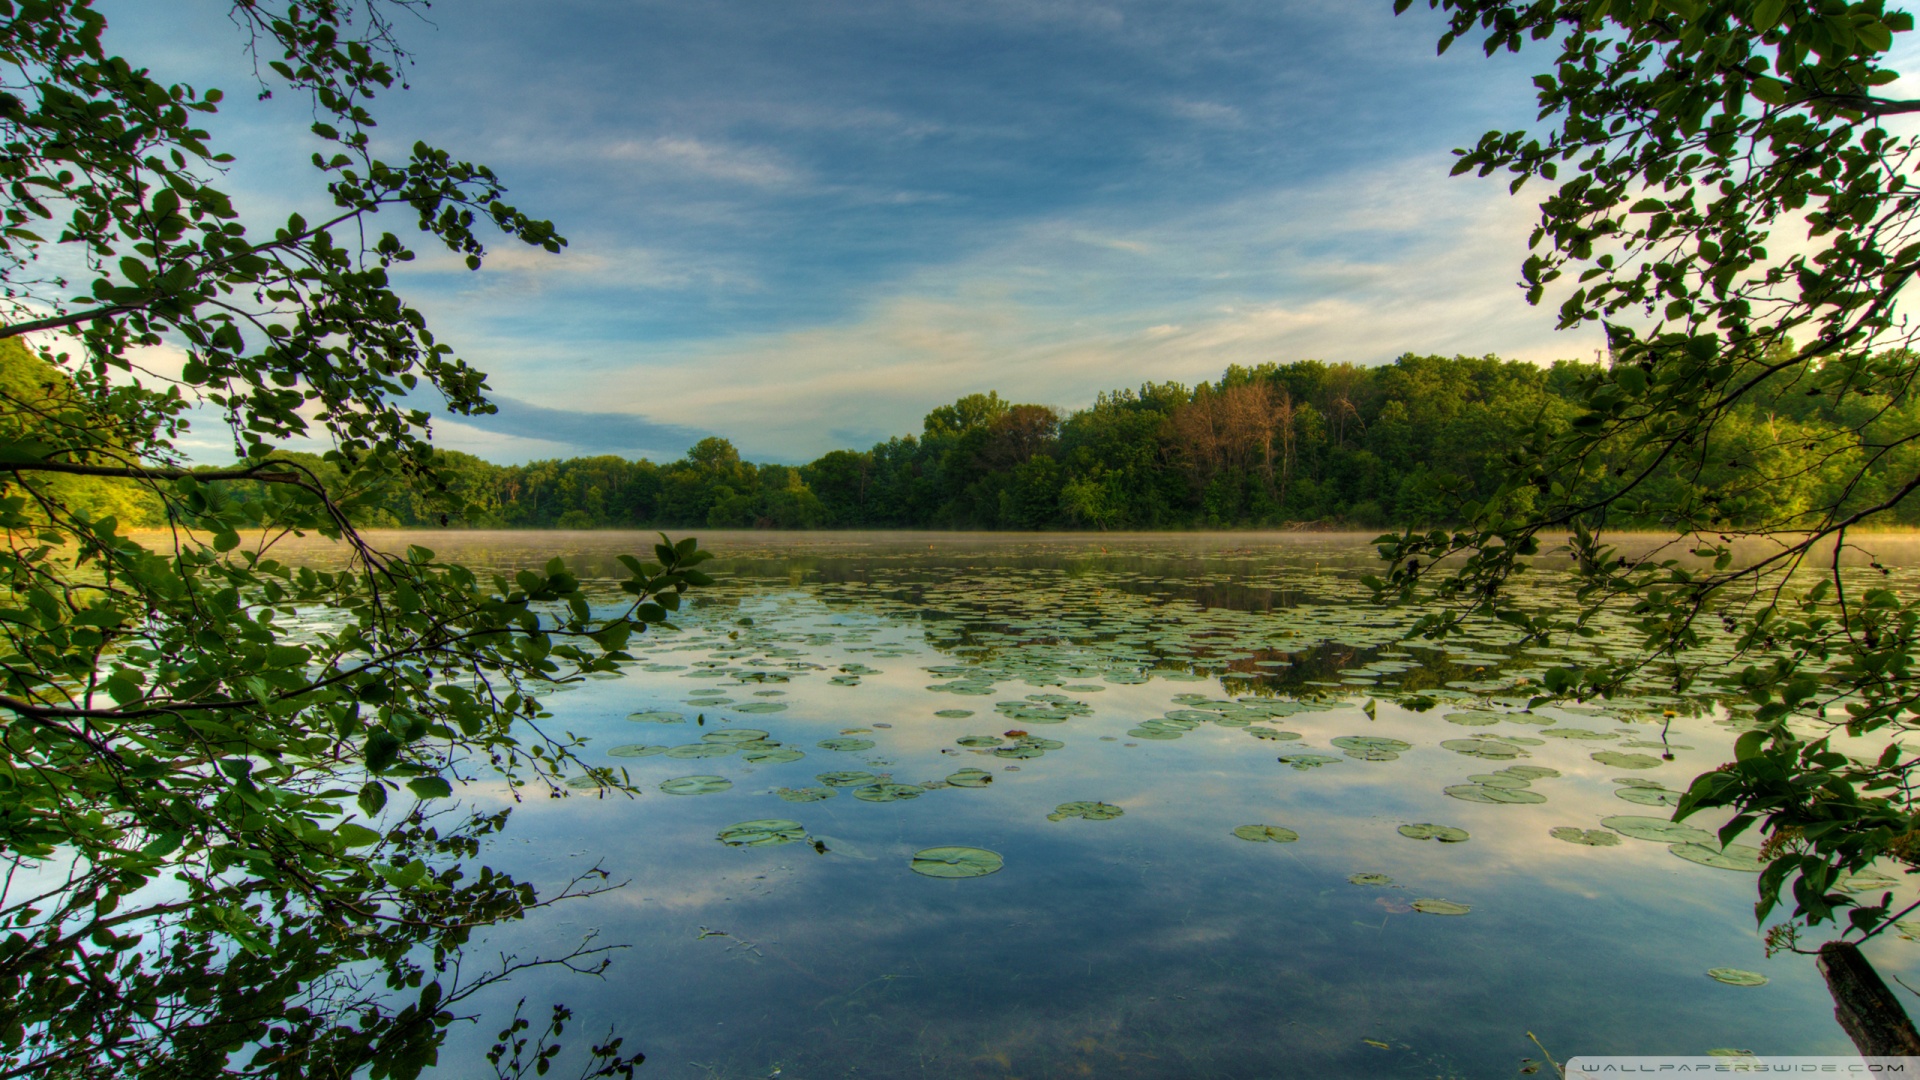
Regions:
<instances>
[{"instance_id":1,"label":"dense green forest along the far shore of the lake","mask_svg":"<svg viewBox=\"0 0 1920 1080\"><path fill-rule=\"evenodd\" d=\"M17 367L19 354L6 367ZM38 361L35 361L38 363ZM743 461L707 438L668 463L616 455L493 465L440 452L445 490L361 492L369 528L933 528L933 530L1206 530L1386 528L1459 519L1467 502L1503 498L1524 511L1534 492L1496 490L1500 461L1534 425L1578 415L1578 384L1594 363L1540 367L1486 357L1402 356L1379 365L1267 363L1229 367L1198 386L1148 382L1079 411L970 394L927 413L918 434L870 450L835 450L806 465ZM29 382L0 371L8 382ZM38 382L38 379L33 379ZM1759 394L1720 423L1711 446L1663 465L1657 503L1693 494L1720 523L1784 527L1836 500L1851 455L1828 436L1859 427L1832 400ZM1868 427L1920 430L1903 402ZM1816 452L1818 448L1818 452ZM323 475L317 455L284 454ZM1628 455L1622 454L1622 461ZM1920 473L1920 446L1897 446L1868 471L1872 490ZM1766 482L1753 482L1766 477ZM163 525L132 484L79 477L92 502L125 525ZM426 488L426 484L417 484ZM234 492L250 498L250 492ZM1615 515L1613 527L1649 527ZM1893 527L1920 525L1908 500Z\"/></svg>"}]
</instances>

